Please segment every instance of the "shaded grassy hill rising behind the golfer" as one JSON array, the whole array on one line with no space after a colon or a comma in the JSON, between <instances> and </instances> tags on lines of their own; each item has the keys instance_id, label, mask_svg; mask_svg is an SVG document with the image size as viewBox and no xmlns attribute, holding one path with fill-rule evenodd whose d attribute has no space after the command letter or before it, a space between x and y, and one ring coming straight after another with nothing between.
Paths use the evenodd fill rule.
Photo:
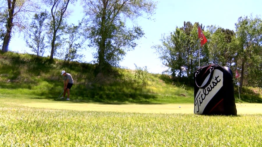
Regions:
<instances>
[{"instance_id":1,"label":"shaded grassy hill rising behind the golfer","mask_svg":"<svg viewBox=\"0 0 262 147\"><path fill-rule=\"evenodd\" d=\"M167 75L149 73L145 84L135 76L134 70L118 68L104 76L95 74L94 64L65 63L13 52L0 53L0 97L58 98L63 91L62 70L74 79L70 99L75 102L194 102L194 87L174 83ZM244 87L241 102L262 103L261 89Z\"/></svg>"}]
</instances>

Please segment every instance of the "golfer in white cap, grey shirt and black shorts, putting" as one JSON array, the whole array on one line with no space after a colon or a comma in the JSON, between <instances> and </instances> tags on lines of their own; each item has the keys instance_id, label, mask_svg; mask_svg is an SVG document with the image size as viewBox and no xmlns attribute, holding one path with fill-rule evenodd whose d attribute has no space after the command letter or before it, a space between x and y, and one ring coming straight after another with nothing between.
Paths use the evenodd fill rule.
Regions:
<instances>
[{"instance_id":1,"label":"golfer in white cap, grey shirt and black shorts, putting","mask_svg":"<svg viewBox=\"0 0 262 147\"><path fill-rule=\"evenodd\" d=\"M65 98L65 93L67 92L66 100L69 101L70 89L74 83L74 80L70 75L70 73L66 73L64 70L61 72L61 75L63 76L63 81L64 81L64 94L63 97L61 98Z\"/></svg>"}]
</instances>

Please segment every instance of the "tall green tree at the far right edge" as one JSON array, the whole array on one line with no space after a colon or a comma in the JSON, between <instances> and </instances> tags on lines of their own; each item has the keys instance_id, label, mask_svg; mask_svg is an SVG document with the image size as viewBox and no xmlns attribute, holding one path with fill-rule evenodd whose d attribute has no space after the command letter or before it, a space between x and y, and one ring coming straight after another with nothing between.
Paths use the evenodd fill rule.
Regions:
<instances>
[{"instance_id":1,"label":"tall green tree at the far right edge","mask_svg":"<svg viewBox=\"0 0 262 147\"><path fill-rule=\"evenodd\" d=\"M259 17L239 17L236 26L236 39L238 42L238 55L236 64L240 64L240 92L243 80L248 70L256 68L254 63L261 61L262 20ZM260 59L259 59L260 58ZM259 63L261 65L261 62ZM261 69L261 67L259 67ZM261 73L261 72L260 72ZM260 74L261 76L261 74Z\"/></svg>"}]
</instances>

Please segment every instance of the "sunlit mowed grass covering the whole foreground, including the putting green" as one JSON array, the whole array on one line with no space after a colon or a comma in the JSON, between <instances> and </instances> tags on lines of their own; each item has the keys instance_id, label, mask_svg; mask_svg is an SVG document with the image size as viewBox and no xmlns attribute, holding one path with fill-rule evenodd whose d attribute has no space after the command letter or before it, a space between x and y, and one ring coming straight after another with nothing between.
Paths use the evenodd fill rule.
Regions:
<instances>
[{"instance_id":1,"label":"sunlit mowed grass covering the whole foreground, including the putting green","mask_svg":"<svg viewBox=\"0 0 262 147\"><path fill-rule=\"evenodd\" d=\"M202 116L193 114L193 104L5 96L0 97L0 146L262 146L262 105L236 105L238 116Z\"/></svg>"}]
</instances>

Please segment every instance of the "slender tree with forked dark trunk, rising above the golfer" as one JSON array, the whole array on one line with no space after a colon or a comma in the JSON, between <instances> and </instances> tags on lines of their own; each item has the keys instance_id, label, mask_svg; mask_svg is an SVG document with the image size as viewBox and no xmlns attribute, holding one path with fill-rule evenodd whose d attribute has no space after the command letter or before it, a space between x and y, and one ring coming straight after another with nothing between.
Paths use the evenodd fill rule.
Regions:
<instances>
[{"instance_id":1,"label":"slender tree with forked dark trunk, rising above the golfer","mask_svg":"<svg viewBox=\"0 0 262 147\"><path fill-rule=\"evenodd\" d=\"M63 29L63 20L69 13L67 13L67 7L70 0L44 0L47 6L51 6L51 16L52 21L50 23L51 26L51 53L50 59L54 58L57 33L59 30ZM72 0L71 0L72 1ZM73 3L74 1L72 1Z\"/></svg>"}]
</instances>

